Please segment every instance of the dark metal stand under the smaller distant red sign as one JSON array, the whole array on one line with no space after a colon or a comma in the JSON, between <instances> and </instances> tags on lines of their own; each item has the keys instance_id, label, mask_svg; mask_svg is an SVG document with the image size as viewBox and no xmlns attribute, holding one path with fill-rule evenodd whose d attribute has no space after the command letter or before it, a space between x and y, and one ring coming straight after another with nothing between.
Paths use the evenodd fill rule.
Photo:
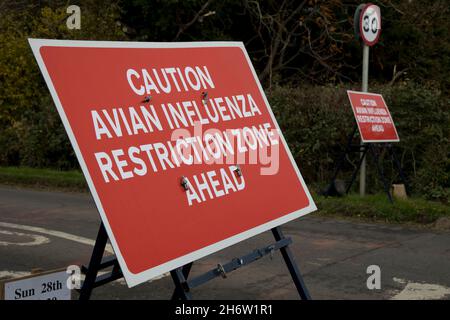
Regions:
<instances>
[{"instance_id":1,"label":"dark metal stand under the smaller distant red sign","mask_svg":"<svg viewBox=\"0 0 450 320\"><path fill-rule=\"evenodd\" d=\"M383 149L387 149L390 156L392 157L392 160L394 161L394 164L395 164L395 168L397 169L399 176L400 176L403 184L405 185L406 193L409 194L409 192L408 192L409 188L408 188L408 183L406 181L406 176L403 172L400 161L398 160L398 157L395 154L393 145L391 143L364 143L364 144L356 143L356 144L354 144L353 139L356 136L357 128L358 128L357 125L355 125L353 132L348 136L347 145L344 149L344 152L342 152L342 154L337 162L337 165L334 170L333 177L331 178L330 184L325 189L325 191L322 192L322 194L325 196L333 196L333 195L336 195L339 193L336 188L336 178L337 178L339 172L341 171L342 166L344 165L345 160L347 159L347 156L352 153L362 153L358 160L358 163L356 164L355 169L353 170L350 181L346 183L345 193L348 194L353 183L356 180L356 176L361 168L361 164L363 163L364 159L367 157L367 154L370 154L373 157L373 160L375 162L378 176L383 183L384 191L385 191L389 201L391 203L393 203L393 198L392 198L392 195L390 192L389 183L386 180L386 177L384 175L383 166L380 164L380 153L381 153L381 150L383 150Z\"/></svg>"}]
</instances>

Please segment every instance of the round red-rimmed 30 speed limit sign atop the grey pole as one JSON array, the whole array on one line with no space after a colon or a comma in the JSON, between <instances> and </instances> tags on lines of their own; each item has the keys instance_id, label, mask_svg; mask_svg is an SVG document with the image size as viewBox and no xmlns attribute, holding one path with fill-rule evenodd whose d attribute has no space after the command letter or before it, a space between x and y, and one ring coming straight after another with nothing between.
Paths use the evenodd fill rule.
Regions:
<instances>
[{"instance_id":1,"label":"round red-rimmed 30 speed limit sign atop the grey pole","mask_svg":"<svg viewBox=\"0 0 450 320\"><path fill-rule=\"evenodd\" d=\"M373 46L381 34L381 11L373 4L367 4L361 11L359 31L364 43Z\"/></svg>"}]
</instances>

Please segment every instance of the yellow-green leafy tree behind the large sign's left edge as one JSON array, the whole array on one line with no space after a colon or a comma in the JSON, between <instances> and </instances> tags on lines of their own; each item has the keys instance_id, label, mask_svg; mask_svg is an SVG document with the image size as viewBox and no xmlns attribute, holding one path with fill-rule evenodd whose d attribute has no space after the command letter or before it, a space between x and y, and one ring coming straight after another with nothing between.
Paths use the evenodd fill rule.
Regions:
<instances>
[{"instance_id":1,"label":"yellow-green leafy tree behind the large sign's left edge","mask_svg":"<svg viewBox=\"0 0 450 320\"><path fill-rule=\"evenodd\" d=\"M84 1L80 30L66 27L66 1L1 1L0 8L7 8L0 11L0 165L73 168L72 147L27 39L125 39L120 8Z\"/></svg>"}]
</instances>

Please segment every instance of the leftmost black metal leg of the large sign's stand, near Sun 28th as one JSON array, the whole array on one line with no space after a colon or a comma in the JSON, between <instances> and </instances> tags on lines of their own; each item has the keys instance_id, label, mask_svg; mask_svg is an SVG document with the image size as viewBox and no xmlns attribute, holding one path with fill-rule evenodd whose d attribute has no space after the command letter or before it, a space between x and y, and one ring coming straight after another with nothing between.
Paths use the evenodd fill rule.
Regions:
<instances>
[{"instance_id":1,"label":"leftmost black metal leg of the large sign's stand, near Sun 28th","mask_svg":"<svg viewBox=\"0 0 450 320\"><path fill-rule=\"evenodd\" d=\"M108 234L106 233L106 229L102 223L100 224L100 228L98 230L97 240L95 241L94 250L92 251L91 260L89 261L86 277L80 290L80 300L89 300L91 297L107 242Z\"/></svg>"}]
</instances>

